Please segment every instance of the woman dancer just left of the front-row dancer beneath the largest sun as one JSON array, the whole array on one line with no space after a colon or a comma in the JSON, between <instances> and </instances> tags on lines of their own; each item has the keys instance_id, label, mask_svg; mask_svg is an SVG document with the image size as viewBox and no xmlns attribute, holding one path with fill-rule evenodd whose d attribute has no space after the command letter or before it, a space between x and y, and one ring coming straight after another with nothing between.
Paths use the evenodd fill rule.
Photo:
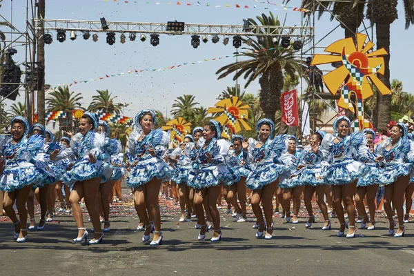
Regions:
<instances>
[{"instance_id":1,"label":"woman dancer just left of the front-row dancer beneath the largest sun","mask_svg":"<svg viewBox=\"0 0 414 276\"><path fill-rule=\"evenodd\" d=\"M305 146L302 153L302 159L297 166L297 170L292 172L292 179L290 181L302 183L304 188L304 204L308 211L309 219L306 222L306 228L311 228L313 222L315 222L315 215L313 215L312 197L316 192L316 202L319 209L324 216L324 226L322 230L331 230L331 220L328 216L328 208L324 201L326 184L322 175L322 152L320 151L320 145L322 139L325 137L325 132L316 130L312 135L311 144Z\"/></svg>"}]
</instances>

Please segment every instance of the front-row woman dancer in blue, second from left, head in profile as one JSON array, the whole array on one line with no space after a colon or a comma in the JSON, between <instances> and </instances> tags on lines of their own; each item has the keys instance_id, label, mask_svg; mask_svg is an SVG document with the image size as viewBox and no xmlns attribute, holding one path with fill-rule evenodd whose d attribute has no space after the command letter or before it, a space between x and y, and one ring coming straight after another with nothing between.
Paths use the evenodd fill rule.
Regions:
<instances>
[{"instance_id":1,"label":"front-row woman dancer in blue, second from left, head in profile","mask_svg":"<svg viewBox=\"0 0 414 276\"><path fill-rule=\"evenodd\" d=\"M73 242L82 242L88 240L88 231L83 224L83 216L79 201L85 197L86 208L92 226L95 230L94 237L89 244L101 244L103 232L101 232L101 221L96 208L97 195L101 184L102 174L102 150L105 136L95 130L98 128L98 118L95 113L85 112L79 121L79 133L72 137L70 149L64 150L58 155L59 159L69 157L72 152L74 163L71 164L70 170L66 172L62 181L72 187L70 193L70 204L72 214L78 227L78 236Z\"/></svg>"}]
</instances>

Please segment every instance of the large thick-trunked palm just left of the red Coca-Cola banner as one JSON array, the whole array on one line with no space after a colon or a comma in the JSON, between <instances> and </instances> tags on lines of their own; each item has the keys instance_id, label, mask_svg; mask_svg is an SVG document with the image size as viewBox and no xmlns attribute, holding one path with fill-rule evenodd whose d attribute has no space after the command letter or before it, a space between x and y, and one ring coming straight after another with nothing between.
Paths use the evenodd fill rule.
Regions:
<instances>
[{"instance_id":1,"label":"large thick-trunked palm just left of the red Coca-Cola banner","mask_svg":"<svg viewBox=\"0 0 414 276\"><path fill-rule=\"evenodd\" d=\"M270 12L270 16L266 16L266 14L262 14L262 17L258 16L257 20L263 26L275 26L275 29L271 30L275 31L275 37L273 38L281 39L282 30L279 31L281 24L272 12ZM250 25L258 25L251 18L248 19L248 22ZM295 57L291 49L274 48L274 43L270 37L260 37L258 39L261 40L261 43L253 40L252 48L243 48L246 49L246 52L235 52L236 56L248 57L249 59L228 64L217 70L216 74L219 75L218 79L222 79L235 73L233 80L243 75L244 79L247 79L244 88L259 78L259 84L262 88L260 106L266 117L275 120L275 112L280 109L280 94L283 88L284 73L294 77L295 72L302 75L305 68L302 61ZM246 43L246 39L242 40ZM263 48L273 50L263 50Z\"/></svg>"}]
</instances>

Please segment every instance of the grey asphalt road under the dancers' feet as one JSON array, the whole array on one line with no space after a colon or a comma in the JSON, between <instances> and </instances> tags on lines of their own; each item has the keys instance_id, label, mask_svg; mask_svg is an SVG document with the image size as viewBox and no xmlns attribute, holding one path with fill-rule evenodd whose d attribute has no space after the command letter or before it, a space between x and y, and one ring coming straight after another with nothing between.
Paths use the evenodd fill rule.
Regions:
<instances>
[{"instance_id":1,"label":"grey asphalt road under the dancers' feet","mask_svg":"<svg viewBox=\"0 0 414 276\"><path fill-rule=\"evenodd\" d=\"M336 237L337 219L333 230L322 231L320 217L308 230L305 218L288 224L275 217L268 241L255 238L253 218L237 223L222 209L223 237L213 244L197 241L195 219L178 223L177 206L161 204L164 240L157 248L141 242L131 204L115 206L112 229L95 246L70 242L77 230L67 215L30 232L24 244L12 241L10 222L0 222L0 275L410 275L414 268L413 223L400 239L386 236L385 219L376 230L358 229L358 237L346 239Z\"/></svg>"}]
</instances>

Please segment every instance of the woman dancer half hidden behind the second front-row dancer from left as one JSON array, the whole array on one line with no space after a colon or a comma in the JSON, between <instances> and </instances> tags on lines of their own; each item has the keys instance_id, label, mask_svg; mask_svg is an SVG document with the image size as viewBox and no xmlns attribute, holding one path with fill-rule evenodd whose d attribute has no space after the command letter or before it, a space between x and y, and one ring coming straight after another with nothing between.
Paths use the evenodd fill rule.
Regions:
<instances>
[{"instance_id":1,"label":"woman dancer half hidden behind the second front-row dancer from left","mask_svg":"<svg viewBox=\"0 0 414 276\"><path fill-rule=\"evenodd\" d=\"M109 232L110 194L112 193L112 188L115 184L115 179L112 179L112 175L114 172L117 172L118 174L120 172L120 170L115 170L115 166L113 166L112 163L119 161L118 155L122 150L122 145L119 141L117 141L117 139L109 138L110 128L106 121L99 121L97 132L105 136L101 156L103 164L101 185L99 186L98 205L101 207L102 210L100 211L103 213L103 232Z\"/></svg>"}]
</instances>

